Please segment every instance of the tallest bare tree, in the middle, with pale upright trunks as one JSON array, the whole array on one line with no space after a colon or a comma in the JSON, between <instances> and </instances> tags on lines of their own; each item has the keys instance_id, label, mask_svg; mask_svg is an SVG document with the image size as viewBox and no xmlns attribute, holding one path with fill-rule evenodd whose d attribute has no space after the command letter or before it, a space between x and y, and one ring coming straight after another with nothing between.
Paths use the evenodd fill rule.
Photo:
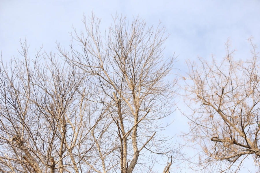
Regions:
<instances>
[{"instance_id":1,"label":"tallest bare tree, in the middle, with pale upright trunks","mask_svg":"<svg viewBox=\"0 0 260 173\"><path fill-rule=\"evenodd\" d=\"M166 145L170 138L158 133L165 128L161 120L171 114L175 84L166 80L174 57L163 55L165 28L146 27L139 17L127 22L116 16L102 35L94 15L89 23L86 18L83 22L85 31L75 31L73 36L78 44L72 44L70 52L61 46L59 51L95 85L88 99L109 112L105 118L109 125L101 132L104 138L95 141L97 157L85 160L86 164L100 173L152 172L155 155L174 155L173 146ZM92 132L93 138L99 135ZM169 172L173 161L164 172Z\"/></svg>"}]
</instances>

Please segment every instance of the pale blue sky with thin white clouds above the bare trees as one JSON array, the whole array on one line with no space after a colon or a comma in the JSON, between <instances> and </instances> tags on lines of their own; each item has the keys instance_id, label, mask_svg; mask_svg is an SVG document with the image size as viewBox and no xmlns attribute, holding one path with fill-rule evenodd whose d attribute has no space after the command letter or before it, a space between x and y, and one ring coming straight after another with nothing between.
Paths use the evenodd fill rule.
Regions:
<instances>
[{"instance_id":1,"label":"pale blue sky with thin white clouds above the bare trees","mask_svg":"<svg viewBox=\"0 0 260 173\"><path fill-rule=\"evenodd\" d=\"M42 45L47 52L57 52L56 42L69 46L72 26L83 29L84 13L90 16L93 11L101 18L101 30L113 22L111 15L122 13L131 21L139 14L147 25L157 25L160 20L166 26L170 36L165 56L175 52L177 72L184 74L187 59L224 57L228 38L237 50L235 58L249 58L247 39L253 36L260 45L259 8L259 0L0 0L0 50L8 62L19 55L20 38L26 38L31 53ZM187 131L187 120L180 113L174 113L172 119L174 130L168 131Z\"/></svg>"}]
</instances>

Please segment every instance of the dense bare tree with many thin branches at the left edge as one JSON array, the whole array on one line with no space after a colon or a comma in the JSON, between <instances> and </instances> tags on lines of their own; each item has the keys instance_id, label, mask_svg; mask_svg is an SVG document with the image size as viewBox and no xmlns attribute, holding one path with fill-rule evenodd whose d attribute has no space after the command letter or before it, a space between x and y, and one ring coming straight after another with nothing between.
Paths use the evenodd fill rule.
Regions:
<instances>
[{"instance_id":1,"label":"dense bare tree with many thin branches at the left edge","mask_svg":"<svg viewBox=\"0 0 260 173\"><path fill-rule=\"evenodd\" d=\"M0 64L0 171L84 172L105 112L93 114L80 70L51 54L31 61L27 42L21 46L23 59Z\"/></svg>"}]
</instances>

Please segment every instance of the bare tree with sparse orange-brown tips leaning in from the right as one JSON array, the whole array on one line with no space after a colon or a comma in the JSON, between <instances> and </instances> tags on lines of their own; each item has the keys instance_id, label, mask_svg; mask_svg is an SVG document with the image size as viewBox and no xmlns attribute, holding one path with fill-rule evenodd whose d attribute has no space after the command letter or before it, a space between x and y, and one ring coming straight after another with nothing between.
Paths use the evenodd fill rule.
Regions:
<instances>
[{"instance_id":1,"label":"bare tree with sparse orange-brown tips leaning in from the right","mask_svg":"<svg viewBox=\"0 0 260 173\"><path fill-rule=\"evenodd\" d=\"M259 168L260 73L256 45L247 61L233 59L229 50L220 64L212 58L188 62L186 103L192 109L188 139L200 146L200 168L213 165L219 172L238 172L249 156ZM191 81L190 81L191 80ZM211 171L210 171L211 172Z\"/></svg>"}]
</instances>

